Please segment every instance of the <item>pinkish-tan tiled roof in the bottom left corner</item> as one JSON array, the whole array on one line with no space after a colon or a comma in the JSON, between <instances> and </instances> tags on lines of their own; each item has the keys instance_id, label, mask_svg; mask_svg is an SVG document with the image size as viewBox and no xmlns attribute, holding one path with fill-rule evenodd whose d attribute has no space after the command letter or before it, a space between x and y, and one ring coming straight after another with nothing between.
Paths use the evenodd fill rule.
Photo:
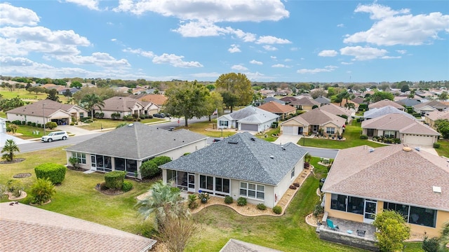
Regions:
<instances>
[{"instance_id":1,"label":"pinkish-tan tiled roof in the bottom left corner","mask_svg":"<svg viewBox=\"0 0 449 252\"><path fill-rule=\"evenodd\" d=\"M153 239L26 204L0 203L1 251L147 251Z\"/></svg>"}]
</instances>

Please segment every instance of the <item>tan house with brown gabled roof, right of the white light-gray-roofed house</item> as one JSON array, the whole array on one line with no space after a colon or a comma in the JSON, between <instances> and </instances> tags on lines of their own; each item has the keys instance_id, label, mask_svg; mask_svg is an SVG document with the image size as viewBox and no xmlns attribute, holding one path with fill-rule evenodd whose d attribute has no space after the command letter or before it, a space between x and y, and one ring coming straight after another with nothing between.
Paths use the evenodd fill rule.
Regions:
<instances>
[{"instance_id":1,"label":"tan house with brown gabled roof, right of the white light-gray-roofed house","mask_svg":"<svg viewBox=\"0 0 449 252\"><path fill-rule=\"evenodd\" d=\"M345 118L321 108L312 109L281 123L281 134L308 136L322 132L323 136L335 137L343 132L345 122Z\"/></svg>"}]
</instances>

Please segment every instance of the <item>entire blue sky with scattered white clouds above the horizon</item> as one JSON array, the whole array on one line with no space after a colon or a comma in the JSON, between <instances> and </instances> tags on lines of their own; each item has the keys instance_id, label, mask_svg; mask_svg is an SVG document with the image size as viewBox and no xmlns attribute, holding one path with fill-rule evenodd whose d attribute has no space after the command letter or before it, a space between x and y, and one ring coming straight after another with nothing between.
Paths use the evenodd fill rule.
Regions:
<instances>
[{"instance_id":1,"label":"entire blue sky with scattered white clouds above the horizon","mask_svg":"<svg viewBox=\"0 0 449 252\"><path fill-rule=\"evenodd\" d=\"M449 1L0 2L0 74L449 80Z\"/></svg>"}]
</instances>

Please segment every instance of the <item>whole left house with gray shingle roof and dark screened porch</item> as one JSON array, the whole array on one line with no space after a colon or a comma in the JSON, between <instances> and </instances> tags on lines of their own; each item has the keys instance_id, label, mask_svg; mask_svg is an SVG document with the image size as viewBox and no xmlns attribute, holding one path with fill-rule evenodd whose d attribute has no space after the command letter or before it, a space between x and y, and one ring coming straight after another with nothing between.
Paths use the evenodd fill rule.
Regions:
<instances>
[{"instance_id":1,"label":"whole left house with gray shingle roof and dark screened porch","mask_svg":"<svg viewBox=\"0 0 449 252\"><path fill-rule=\"evenodd\" d=\"M125 171L140 178L142 162L158 156L172 160L206 146L208 137L189 130L162 130L142 123L131 123L65 148L79 167L98 172Z\"/></svg>"}]
</instances>

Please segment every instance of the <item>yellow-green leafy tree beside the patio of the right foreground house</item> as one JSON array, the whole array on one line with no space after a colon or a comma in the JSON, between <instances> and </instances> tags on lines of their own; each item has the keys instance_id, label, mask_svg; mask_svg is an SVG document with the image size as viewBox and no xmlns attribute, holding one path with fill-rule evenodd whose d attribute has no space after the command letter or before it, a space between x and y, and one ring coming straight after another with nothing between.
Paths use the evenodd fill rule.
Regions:
<instances>
[{"instance_id":1,"label":"yellow-green leafy tree beside the patio of the right foreground house","mask_svg":"<svg viewBox=\"0 0 449 252\"><path fill-rule=\"evenodd\" d=\"M377 214L373 225L379 230L375 232L380 251L402 251L403 241L410 237L410 227L403 216L396 211L384 210Z\"/></svg>"}]
</instances>

